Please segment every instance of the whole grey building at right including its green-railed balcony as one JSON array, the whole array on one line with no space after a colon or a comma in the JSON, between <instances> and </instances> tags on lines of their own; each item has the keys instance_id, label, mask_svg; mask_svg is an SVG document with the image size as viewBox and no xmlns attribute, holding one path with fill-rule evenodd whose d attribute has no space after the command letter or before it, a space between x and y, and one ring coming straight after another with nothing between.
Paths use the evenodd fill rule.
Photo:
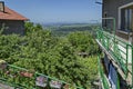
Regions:
<instances>
[{"instance_id":1,"label":"whole grey building at right including its green-railed balcony","mask_svg":"<svg viewBox=\"0 0 133 89\"><path fill-rule=\"evenodd\" d=\"M96 41L102 89L133 88L133 0L103 0Z\"/></svg>"}]
</instances>

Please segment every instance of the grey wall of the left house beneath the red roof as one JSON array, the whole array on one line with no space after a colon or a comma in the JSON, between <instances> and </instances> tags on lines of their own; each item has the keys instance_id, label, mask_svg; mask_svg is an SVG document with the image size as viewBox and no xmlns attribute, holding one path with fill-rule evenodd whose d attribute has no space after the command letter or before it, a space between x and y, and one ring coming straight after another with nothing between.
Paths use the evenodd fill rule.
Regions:
<instances>
[{"instance_id":1,"label":"grey wall of the left house beneath the red roof","mask_svg":"<svg viewBox=\"0 0 133 89\"><path fill-rule=\"evenodd\" d=\"M4 34L18 33L24 34L24 21L17 20L0 20L0 28L4 24L6 29L3 30Z\"/></svg>"}]
</instances>

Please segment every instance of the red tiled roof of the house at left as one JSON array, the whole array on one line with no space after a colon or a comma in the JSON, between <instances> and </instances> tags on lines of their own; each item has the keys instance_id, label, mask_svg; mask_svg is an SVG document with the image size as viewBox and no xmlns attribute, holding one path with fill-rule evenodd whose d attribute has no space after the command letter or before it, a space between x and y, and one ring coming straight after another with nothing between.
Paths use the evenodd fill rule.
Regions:
<instances>
[{"instance_id":1,"label":"red tiled roof of the house at left","mask_svg":"<svg viewBox=\"0 0 133 89\"><path fill-rule=\"evenodd\" d=\"M0 20L28 20L28 19L21 16L20 13L6 7L4 12L0 11Z\"/></svg>"}]
</instances>

